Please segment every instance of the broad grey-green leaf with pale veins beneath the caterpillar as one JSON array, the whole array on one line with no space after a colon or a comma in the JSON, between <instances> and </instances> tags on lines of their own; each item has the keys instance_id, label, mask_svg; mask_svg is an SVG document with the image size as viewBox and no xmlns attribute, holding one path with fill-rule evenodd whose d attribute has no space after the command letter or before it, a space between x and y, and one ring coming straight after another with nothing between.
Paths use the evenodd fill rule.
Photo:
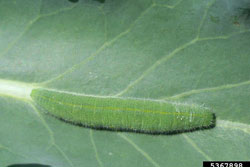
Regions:
<instances>
[{"instance_id":1,"label":"broad grey-green leaf with pale veins beneath the caterpillar","mask_svg":"<svg viewBox=\"0 0 250 167\"><path fill-rule=\"evenodd\" d=\"M204 160L250 160L250 21L241 11L246 5L1 0L0 166L198 167ZM160 136L91 130L47 115L20 98L18 89L8 92L11 81L204 105L216 113L217 124Z\"/></svg>"}]
</instances>

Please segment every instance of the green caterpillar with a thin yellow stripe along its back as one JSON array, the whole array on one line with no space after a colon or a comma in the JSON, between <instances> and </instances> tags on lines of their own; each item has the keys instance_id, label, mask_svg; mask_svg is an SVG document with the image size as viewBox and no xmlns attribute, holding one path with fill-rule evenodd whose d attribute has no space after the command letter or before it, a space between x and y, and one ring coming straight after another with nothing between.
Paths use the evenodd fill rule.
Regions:
<instances>
[{"instance_id":1,"label":"green caterpillar with a thin yellow stripe along its back","mask_svg":"<svg viewBox=\"0 0 250 167\"><path fill-rule=\"evenodd\" d=\"M215 124L214 113L197 105L77 95L40 88L32 90L31 98L57 118L95 129L168 134Z\"/></svg>"}]
</instances>

